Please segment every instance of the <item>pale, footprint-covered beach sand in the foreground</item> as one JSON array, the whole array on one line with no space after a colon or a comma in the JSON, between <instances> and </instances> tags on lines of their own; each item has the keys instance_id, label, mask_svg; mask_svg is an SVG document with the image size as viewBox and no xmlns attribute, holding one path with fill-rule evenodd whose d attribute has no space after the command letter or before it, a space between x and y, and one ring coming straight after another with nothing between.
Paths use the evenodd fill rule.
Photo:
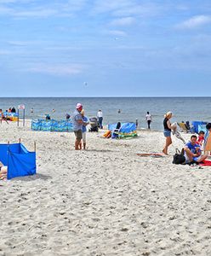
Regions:
<instances>
[{"instance_id":1,"label":"pale, footprint-covered beach sand in the foreground","mask_svg":"<svg viewBox=\"0 0 211 256\"><path fill-rule=\"evenodd\" d=\"M0 124L0 143L21 138L37 175L0 182L0 255L211 255L211 168L172 164L162 132L130 140ZM185 135L185 138L190 137Z\"/></svg>"}]
</instances>

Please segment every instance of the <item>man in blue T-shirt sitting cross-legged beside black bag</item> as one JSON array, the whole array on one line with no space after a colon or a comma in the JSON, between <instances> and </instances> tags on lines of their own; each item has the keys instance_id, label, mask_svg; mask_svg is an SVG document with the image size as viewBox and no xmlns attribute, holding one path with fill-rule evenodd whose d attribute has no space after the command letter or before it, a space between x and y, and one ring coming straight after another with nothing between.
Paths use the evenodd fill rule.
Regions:
<instances>
[{"instance_id":1,"label":"man in blue T-shirt sitting cross-legged beside black bag","mask_svg":"<svg viewBox=\"0 0 211 256\"><path fill-rule=\"evenodd\" d=\"M186 163L197 162L201 163L208 157L208 154L202 155L200 145L197 144L197 136L192 135L191 141L185 144L185 161Z\"/></svg>"}]
</instances>

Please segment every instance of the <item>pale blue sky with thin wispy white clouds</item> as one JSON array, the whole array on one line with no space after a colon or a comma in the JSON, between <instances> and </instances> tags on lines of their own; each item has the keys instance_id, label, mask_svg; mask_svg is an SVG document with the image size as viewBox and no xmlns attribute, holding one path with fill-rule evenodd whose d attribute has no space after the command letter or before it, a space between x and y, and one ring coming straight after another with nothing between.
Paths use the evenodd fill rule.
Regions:
<instances>
[{"instance_id":1,"label":"pale blue sky with thin wispy white clouds","mask_svg":"<svg viewBox=\"0 0 211 256\"><path fill-rule=\"evenodd\" d=\"M211 1L0 0L1 96L211 96Z\"/></svg>"}]
</instances>

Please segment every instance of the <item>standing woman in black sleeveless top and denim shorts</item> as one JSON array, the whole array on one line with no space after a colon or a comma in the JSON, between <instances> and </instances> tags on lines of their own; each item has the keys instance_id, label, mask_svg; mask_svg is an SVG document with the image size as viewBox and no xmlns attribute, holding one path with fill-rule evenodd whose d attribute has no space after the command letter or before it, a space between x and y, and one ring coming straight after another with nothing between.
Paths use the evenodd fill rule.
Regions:
<instances>
[{"instance_id":1,"label":"standing woman in black sleeveless top and denim shorts","mask_svg":"<svg viewBox=\"0 0 211 256\"><path fill-rule=\"evenodd\" d=\"M168 113L166 113L164 115L164 119L163 119L163 126L164 126L164 137L166 137L166 144L163 148L163 153L164 154L168 154L168 147L171 145L172 143L172 139L171 139L171 130L175 129L174 125L171 125L170 119L172 118L172 112L168 111Z\"/></svg>"}]
</instances>

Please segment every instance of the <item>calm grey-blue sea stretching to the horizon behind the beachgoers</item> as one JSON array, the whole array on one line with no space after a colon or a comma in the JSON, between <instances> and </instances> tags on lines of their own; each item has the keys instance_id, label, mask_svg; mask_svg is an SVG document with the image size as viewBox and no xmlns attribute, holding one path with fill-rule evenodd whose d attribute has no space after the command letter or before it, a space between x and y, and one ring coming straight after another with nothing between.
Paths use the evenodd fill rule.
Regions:
<instances>
[{"instance_id":1,"label":"calm grey-blue sea stretching to the horizon behind the beachgoers","mask_svg":"<svg viewBox=\"0 0 211 256\"><path fill-rule=\"evenodd\" d=\"M104 125L117 121L139 120L139 127L146 127L145 113L149 111L153 122L151 129L163 129L163 114L172 111L172 121L204 120L211 121L211 97L37 97L0 98L0 108L17 108L26 105L26 119L41 118L49 113L52 119L65 119L72 113L77 102L83 104L88 117L96 116L98 109L104 114ZM31 113L31 108L34 113ZM52 109L55 112L52 112ZM121 113L118 113L118 109Z\"/></svg>"}]
</instances>

